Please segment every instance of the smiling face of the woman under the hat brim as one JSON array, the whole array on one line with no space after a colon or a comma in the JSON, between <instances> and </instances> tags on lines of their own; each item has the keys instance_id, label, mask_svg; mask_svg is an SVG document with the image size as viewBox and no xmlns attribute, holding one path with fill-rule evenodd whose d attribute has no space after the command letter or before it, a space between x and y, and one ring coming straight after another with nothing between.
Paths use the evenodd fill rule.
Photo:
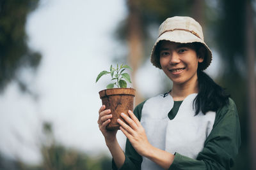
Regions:
<instances>
[{"instance_id":1,"label":"smiling face of the woman under the hat brim","mask_svg":"<svg viewBox=\"0 0 256 170\"><path fill-rule=\"evenodd\" d=\"M204 59L196 54L190 43L161 41L159 60L164 73L173 81L173 85L186 85L196 82L198 62Z\"/></svg>"}]
</instances>

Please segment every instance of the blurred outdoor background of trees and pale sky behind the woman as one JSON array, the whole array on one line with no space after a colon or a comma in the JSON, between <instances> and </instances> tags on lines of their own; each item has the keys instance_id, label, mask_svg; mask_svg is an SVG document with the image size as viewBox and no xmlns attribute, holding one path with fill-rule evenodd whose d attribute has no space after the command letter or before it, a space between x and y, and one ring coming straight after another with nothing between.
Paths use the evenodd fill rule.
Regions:
<instances>
[{"instance_id":1,"label":"blurred outdoor background of trees and pale sky behind the woman","mask_svg":"<svg viewBox=\"0 0 256 170\"><path fill-rule=\"evenodd\" d=\"M150 64L158 27L191 16L213 53L206 72L234 99L242 145L232 169L256 169L255 9L250 0L1 0L0 169L111 169L95 84L132 67L136 104L172 88ZM125 137L118 132L122 148Z\"/></svg>"}]
</instances>

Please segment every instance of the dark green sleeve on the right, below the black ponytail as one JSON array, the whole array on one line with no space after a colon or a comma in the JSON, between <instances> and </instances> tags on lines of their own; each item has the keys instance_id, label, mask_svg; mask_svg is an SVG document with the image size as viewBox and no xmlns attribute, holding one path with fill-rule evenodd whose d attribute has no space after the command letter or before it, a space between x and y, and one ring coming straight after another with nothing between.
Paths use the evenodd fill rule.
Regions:
<instances>
[{"instance_id":1,"label":"dark green sleeve on the right, below the black ponytail","mask_svg":"<svg viewBox=\"0 0 256 170\"><path fill-rule=\"evenodd\" d=\"M230 169L241 145L239 117L236 105L229 99L228 106L217 111L211 134L196 159L175 153L172 169Z\"/></svg>"}]
</instances>

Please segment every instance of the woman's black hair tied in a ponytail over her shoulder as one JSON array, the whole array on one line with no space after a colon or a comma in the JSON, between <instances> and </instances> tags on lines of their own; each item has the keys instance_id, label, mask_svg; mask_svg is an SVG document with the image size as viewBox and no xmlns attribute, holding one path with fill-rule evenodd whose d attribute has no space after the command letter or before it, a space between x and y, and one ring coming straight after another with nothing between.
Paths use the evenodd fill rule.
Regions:
<instances>
[{"instance_id":1,"label":"woman's black hair tied in a ponytail over her shoulder","mask_svg":"<svg viewBox=\"0 0 256 170\"><path fill-rule=\"evenodd\" d=\"M201 43L193 43L193 45L198 55L200 48L205 48ZM217 111L228 104L228 97L230 97L230 95L200 69L200 63L198 64L197 76L198 95L193 101L196 109L195 115L197 115L200 110L205 114L207 111Z\"/></svg>"}]
</instances>

